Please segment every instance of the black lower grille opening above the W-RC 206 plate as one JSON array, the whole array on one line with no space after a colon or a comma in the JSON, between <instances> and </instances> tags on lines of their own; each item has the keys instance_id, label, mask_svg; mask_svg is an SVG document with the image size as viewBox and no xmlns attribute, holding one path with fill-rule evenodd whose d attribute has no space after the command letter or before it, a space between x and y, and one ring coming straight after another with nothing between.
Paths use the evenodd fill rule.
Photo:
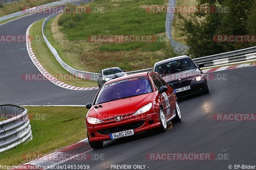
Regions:
<instances>
[{"instance_id":1,"label":"black lower grille opening above the W-RC 206 plate","mask_svg":"<svg viewBox=\"0 0 256 170\"><path fill-rule=\"evenodd\" d=\"M116 133L128 129L137 129L140 126L142 126L145 123L145 121L139 121L139 122L133 122L121 126L116 126L113 128L108 128L108 129L103 129L103 130L98 130L97 132L101 135L109 135L110 133Z\"/></svg>"}]
</instances>

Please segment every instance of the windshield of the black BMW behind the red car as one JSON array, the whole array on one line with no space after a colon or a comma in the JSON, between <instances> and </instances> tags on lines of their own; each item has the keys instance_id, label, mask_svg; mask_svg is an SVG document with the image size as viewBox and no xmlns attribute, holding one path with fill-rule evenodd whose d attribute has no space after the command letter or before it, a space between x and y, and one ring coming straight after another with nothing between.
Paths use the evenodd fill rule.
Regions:
<instances>
[{"instance_id":1,"label":"windshield of the black BMW behind the red car","mask_svg":"<svg viewBox=\"0 0 256 170\"><path fill-rule=\"evenodd\" d=\"M191 69L197 69L196 64L190 58L183 58L180 60L157 65L155 68L155 72L158 72L160 76L163 77L169 74Z\"/></svg>"}]
</instances>

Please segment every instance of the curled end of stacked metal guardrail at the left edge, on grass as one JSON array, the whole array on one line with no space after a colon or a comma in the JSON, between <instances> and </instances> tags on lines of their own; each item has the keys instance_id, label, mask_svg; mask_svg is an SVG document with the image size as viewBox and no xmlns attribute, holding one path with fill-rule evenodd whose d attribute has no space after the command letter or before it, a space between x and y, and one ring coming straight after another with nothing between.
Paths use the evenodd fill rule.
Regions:
<instances>
[{"instance_id":1,"label":"curled end of stacked metal guardrail at the left edge, on grass","mask_svg":"<svg viewBox=\"0 0 256 170\"><path fill-rule=\"evenodd\" d=\"M2 118L9 118L0 122L0 152L15 147L25 141L32 140L28 110L16 105L0 105Z\"/></svg>"}]
</instances>

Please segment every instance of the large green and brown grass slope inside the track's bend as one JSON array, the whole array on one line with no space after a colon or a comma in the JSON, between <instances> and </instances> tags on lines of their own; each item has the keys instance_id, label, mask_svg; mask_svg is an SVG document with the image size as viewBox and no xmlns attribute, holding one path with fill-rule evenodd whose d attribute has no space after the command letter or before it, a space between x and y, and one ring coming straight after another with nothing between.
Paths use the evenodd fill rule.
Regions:
<instances>
[{"instance_id":1,"label":"large green and brown grass slope inside the track's bend","mask_svg":"<svg viewBox=\"0 0 256 170\"><path fill-rule=\"evenodd\" d=\"M165 13L148 13L150 5L168 0L97 0L84 6L104 7L104 13L61 14L53 18L45 34L62 60L77 70L100 72L119 66L132 71L150 68L166 59L169 42L88 42L91 35L165 36Z\"/></svg>"}]
</instances>

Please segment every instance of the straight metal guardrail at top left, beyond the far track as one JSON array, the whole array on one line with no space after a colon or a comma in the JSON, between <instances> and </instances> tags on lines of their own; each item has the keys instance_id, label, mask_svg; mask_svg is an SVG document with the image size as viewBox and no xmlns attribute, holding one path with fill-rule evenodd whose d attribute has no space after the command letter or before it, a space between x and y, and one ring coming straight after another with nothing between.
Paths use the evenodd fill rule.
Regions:
<instances>
[{"instance_id":1,"label":"straight metal guardrail at top left, beyond the far track","mask_svg":"<svg viewBox=\"0 0 256 170\"><path fill-rule=\"evenodd\" d=\"M77 2L77 1L81 1L81 0L62 0L62 1L57 1L57 2L53 2L53 3L49 3L49 4L44 4L44 5L41 5L41 6L33 7L33 8L30 8L30 9L33 11L33 9L41 9L41 8L45 8L45 7L62 5L62 4L66 4L66 3L73 3L73 2ZM22 15L25 15L25 14L27 14L26 11L27 10L19 11L19 12L12 13L10 15L6 15L6 16L0 17L0 22L4 21L4 20L7 20L7 19L14 18L14 17L20 17Z\"/></svg>"}]
</instances>

